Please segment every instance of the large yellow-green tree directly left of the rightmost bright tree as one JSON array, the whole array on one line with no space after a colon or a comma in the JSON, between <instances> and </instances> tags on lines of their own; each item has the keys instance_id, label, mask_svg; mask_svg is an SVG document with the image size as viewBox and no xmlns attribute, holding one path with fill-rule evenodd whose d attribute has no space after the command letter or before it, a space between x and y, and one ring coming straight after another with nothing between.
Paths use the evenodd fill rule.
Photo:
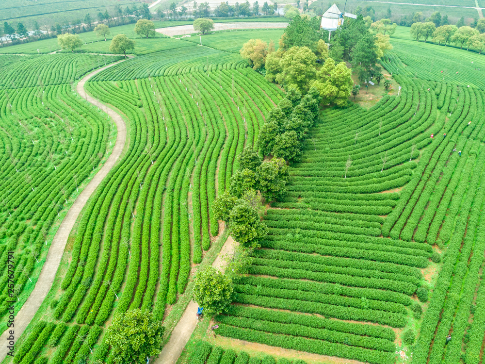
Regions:
<instances>
[{"instance_id":1,"label":"large yellow-green tree directly left of the rightmost bright tree","mask_svg":"<svg viewBox=\"0 0 485 364\"><path fill-rule=\"evenodd\" d=\"M276 81L307 93L309 81L316 75L315 60L315 53L308 47L290 48L281 58L282 72L276 76Z\"/></svg>"}]
</instances>

